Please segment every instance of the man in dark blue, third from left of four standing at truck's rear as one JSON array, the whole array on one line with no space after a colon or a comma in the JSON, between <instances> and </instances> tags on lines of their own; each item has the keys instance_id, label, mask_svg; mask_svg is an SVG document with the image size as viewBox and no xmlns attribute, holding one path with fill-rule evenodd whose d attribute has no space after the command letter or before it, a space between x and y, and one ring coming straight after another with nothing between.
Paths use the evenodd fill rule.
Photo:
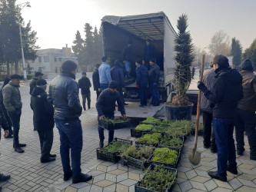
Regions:
<instances>
[{"instance_id":1,"label":"man in dark blue, third from left of four standing at truck's rear","mask_svg":"<svg viewBox=\"0 0 256 192\"><path fill-rule=\"evenodd\" d=\"M138 88L138 94L141 99L141 104L139 107L144 108L147 106L147 99L148 99L148 69L142 65L141 60L135 62L136 68L136 88Z\"/></svg>"}]
</instances>

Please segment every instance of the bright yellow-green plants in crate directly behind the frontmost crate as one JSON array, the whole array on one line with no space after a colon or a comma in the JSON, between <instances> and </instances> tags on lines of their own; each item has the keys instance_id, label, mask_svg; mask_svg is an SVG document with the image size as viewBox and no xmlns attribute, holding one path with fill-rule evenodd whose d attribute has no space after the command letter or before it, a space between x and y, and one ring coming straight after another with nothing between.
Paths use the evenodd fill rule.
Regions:
<instances>
[{"instance_id":1,"label":"bright yellow-green plants in crate directly behind the frontmost crate","mask_svg":"<svg viewBox=\"0 0 256 192\"><path fill-rule=\"evenodd\" d=\"M159 163L175 164L178 159L178 152L167 147L157 148L153 153L153 160Z\"/></svg>"}]
</instances>

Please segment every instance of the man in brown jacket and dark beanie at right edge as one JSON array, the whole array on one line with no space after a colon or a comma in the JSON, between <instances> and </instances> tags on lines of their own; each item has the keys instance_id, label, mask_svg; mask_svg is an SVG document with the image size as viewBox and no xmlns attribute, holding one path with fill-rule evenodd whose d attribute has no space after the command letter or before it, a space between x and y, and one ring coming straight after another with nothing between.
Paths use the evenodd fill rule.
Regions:
<instances>
[{"instance_id":1,"label":"man in brown jacket and dark beanie at right edge","mask_svg":"<svg viewBox=\"0 0 256 192\"><path fill-rule=\"evenodd\" d=\"M243 77L243 94L238 102L238 117L235 123L235 137L237 141L237 153L244 152L244 131L246 131L250 145L250 159L256 161L256 75L253 73L250 60L241 64L241 76Z\"/></svg>"}]
</instances>

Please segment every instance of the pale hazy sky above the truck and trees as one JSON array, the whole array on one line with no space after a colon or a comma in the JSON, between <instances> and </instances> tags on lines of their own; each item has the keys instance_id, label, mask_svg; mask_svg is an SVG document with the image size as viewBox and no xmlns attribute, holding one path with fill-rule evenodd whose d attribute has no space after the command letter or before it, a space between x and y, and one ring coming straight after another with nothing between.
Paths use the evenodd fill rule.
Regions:
<instances>
[{"instance_id":1,"label":"pale hazy sky above the truck and trees","mask_svg":"<svg viewBox=\"0 0 256 192\"><path fill-rule=\"evenodd\" d=\"M26 0L18 0L20 4ZM176 28L178 16L188 15L188 30L194 45L208 47L215 32L223 30L241 41L243 50L256 38L255 0L30 0L22 9L25 22L31 20L41 48L73 45L76 31L84 38L88 22L97 28L105 15L138 15L165 12Z\"/></svg>"}]
</instances>

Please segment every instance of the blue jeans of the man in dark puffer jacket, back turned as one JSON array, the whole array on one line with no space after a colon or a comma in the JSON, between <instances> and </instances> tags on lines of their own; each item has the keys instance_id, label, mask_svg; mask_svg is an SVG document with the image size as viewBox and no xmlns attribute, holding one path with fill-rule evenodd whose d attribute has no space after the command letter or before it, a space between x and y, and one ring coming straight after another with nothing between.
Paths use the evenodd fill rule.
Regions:
<instances>
[{"instance_id":1,"label":"blue jeans of the man in dark puffer jacket, back turned","mask_svg":"<svg viewBox=\"0 0 256 192\"><path fill-rule=\"evenodd\" d=\"M83 147L81 121L64 121L55 119L56 127L61 139L61 157L64 174L78 177L81 174L81 149ZM71 149L71 167L69 158Z\"/></svg>"}]
</instances>

